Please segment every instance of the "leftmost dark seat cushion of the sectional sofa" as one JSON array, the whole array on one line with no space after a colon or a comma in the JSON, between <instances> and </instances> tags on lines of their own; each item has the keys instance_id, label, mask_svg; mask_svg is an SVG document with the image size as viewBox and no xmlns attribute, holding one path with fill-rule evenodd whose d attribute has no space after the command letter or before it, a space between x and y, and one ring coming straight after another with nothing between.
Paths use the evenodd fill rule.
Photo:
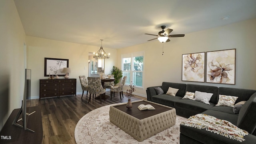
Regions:
<instances>
[{"instance_id":1,"label":"leftmost dark seat cushion of the sectional sofa","mask_svg":"<svg viewBox=\"0 0 256 144\"><path fill-rule=\"evenodd\" d=\"M180 96L169 96L167 94L160 94L151 97L152 102L164 104L166 106L174 106L174 102L177 102L181 99L182 97Z\"/></svg>"}]
</instances>

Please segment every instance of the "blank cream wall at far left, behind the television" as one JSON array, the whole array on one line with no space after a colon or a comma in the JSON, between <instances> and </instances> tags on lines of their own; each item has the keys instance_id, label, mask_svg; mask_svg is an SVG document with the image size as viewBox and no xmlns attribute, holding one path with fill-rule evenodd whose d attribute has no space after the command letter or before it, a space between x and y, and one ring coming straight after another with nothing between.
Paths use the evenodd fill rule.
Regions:
<instances>
[{"instance_id":1,"label":"blank cream wall at far left, behind the television","mask_svg":"<svg viewBox=\"0 0 256 144\"><path fill-rule=\"evenodd\" d=\"M0 0L0 129L21 107L24 90L25 32L13 0Z\"/></svg>"}]
</instances>

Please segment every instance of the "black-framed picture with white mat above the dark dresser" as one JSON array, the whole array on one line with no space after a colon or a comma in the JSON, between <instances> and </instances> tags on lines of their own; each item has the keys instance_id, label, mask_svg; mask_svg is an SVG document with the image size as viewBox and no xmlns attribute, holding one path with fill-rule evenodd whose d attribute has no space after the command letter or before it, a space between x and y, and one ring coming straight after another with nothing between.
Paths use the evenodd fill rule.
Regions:
<instances>
[{"instance_id":1,"label":"black-framed picture with white mat above the dark dresser","mask_svg":"<svg viewBox=\"0 0 256 144\"><path fill-rule=\"evenodd\" d=\"M44 58L44 76L65 76L63 68L68 68L68 59Z\"/></svg>"}]
</instances>

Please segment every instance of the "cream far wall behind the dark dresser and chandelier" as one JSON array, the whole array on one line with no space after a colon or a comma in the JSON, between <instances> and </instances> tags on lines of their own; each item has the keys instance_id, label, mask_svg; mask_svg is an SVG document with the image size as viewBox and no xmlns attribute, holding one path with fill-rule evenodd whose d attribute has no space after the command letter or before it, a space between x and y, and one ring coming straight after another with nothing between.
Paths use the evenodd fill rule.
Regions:
<instances>
[{"instance_id":1,"label":"cream far wall behind the dark dresser and chandelier","mask_svg":"<svg viewBox=\"0 0 256 144\"><path fill-rule=\"evenodd\" d=\"M44 58L62 58L69 60L71 68L70 78L76 78L76 92L82 94L80 75L88 76L88 54L97 52L100 46L88 46L71 42L62 42L44 38L26 36L28 47L27 67L32 70L31 96L39 98L39 79L44 77ZM104 48L110 53L110 58L105 61L105 73L109 74L112 66L116 65L116 49ZM84 67L86 70L84 70ZM64 78L64 77L60 77Z\"/></svg>"}]
</instances>

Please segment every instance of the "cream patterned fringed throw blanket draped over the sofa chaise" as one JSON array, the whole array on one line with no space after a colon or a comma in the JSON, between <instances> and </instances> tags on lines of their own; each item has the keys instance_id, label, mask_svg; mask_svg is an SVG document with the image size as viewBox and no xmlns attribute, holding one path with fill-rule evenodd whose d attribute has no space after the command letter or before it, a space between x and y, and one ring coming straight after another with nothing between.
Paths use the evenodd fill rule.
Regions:
<instances>
[{"instance_id":1,"label":"cream patterned fringed throw blanket draped over the sofa chaise","mask_svg":"<svg viewBox=\"0 0 256 144\"><path fill-rule=\"evenodd\" d=\"M239 142L244 141L244 136L248 135L247 131L238 128L231 122L220 120L207 114L196 114L195 116L190 116L188 120L181 122L181 125L197 129L205 128L206 131L214 132L221 136L225 136L226 138L238 140Z\"/></svg>"}]
</instances>

